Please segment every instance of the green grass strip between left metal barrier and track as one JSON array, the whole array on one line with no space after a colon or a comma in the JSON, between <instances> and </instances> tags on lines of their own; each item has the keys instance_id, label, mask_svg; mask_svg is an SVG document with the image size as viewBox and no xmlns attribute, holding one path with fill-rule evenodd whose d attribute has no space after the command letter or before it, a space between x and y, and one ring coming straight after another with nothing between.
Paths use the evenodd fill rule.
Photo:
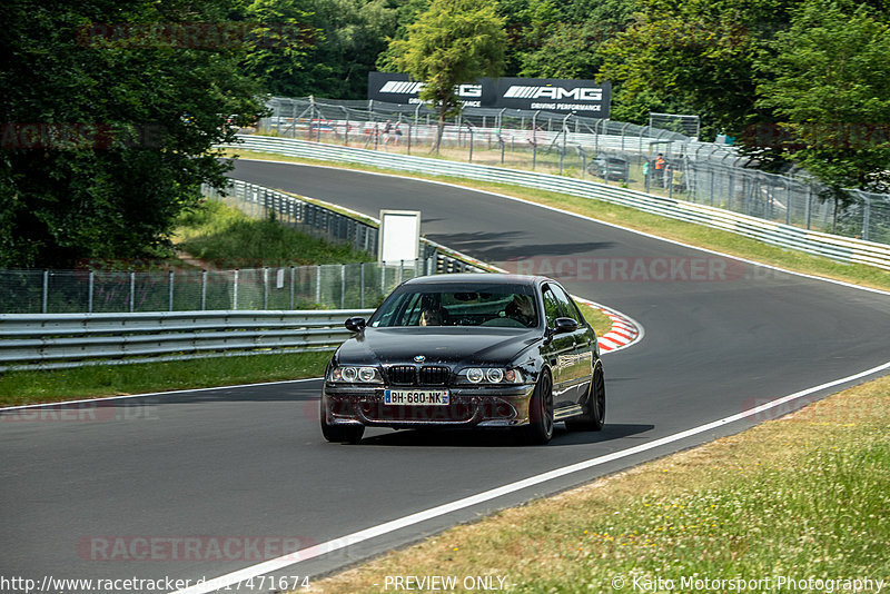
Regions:
<instances>
[{"instance_id":1,"label":"green grass strip between left metal barrier and track","mask_svg":"<svg viewBox=\"0 0 890 594\"><path fill-rule=\"evenodd\" d=\"M97 365L0 375L0 406L320 377L330 353Z\"/></svg>"}]
</instances>

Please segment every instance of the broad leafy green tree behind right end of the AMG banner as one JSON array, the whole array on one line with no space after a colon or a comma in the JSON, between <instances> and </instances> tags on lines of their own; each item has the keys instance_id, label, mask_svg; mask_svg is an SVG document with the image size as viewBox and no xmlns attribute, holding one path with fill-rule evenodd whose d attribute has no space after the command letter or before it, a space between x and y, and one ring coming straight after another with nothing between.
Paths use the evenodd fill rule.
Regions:
<instances>
[{"instance_id":1,"label":"broad leafy green tree behind right end of the AMG banner","mask_svg":"<svg viewBox=\"0 0 890 594\"><path fill-rule=\"evenodd\" d=\"M621 86L622 103L655 99L701 116L705 133L738 133L770 120L753 65L795 3L639 0L631 27L603 47L601 78Z\"/></svg>"}]
</instances>

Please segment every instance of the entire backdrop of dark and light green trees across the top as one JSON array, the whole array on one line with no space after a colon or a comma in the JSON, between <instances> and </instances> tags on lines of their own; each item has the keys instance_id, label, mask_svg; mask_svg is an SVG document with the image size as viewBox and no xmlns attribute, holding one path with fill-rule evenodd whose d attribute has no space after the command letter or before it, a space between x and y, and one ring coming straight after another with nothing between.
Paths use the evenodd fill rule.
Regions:
<instances>
[{"instance_id":1,"label":"entire backdrop of dark and light green trees across the top","mask_svg":"<svg viewBox=\"0 0 890 594\"><path fill-rule=\"evenodd\" d=\"M596 78L612 117L694 113L760 167L890 184L890 0L0 3L0 267L161 254L263 93L365 99L400 70L453 109L481 75ZM157 26L154 31L148 24ZM219 26L221 31L215 30ZM177 27L184 29L177 33ZM240 29L238 28L240 27Z\"/></svg>"}]
</instances>

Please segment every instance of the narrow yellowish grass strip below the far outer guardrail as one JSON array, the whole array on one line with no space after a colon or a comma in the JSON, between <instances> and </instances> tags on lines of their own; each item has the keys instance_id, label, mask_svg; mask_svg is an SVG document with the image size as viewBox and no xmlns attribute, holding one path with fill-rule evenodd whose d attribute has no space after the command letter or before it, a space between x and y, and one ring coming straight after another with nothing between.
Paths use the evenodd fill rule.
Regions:
<instances>
[{"instance_id":1,"label":"narrow yellowish grass strip below the far outer guardrail","mask_svg":"<svg viewBox=\"0 0 890 594\"><path fill-rule=\"evenodd\" d=\"M604 222L621 225L622 227L652 234L665 239L682 241L684 244L738 256L740 258L779 266L789 270L825 278L833 278L835 280L843 280L854 285L890 290L890 273L880 268L860 264L842 264L829 258L811 256L802 251L794 251L771 246L769 244L763 244L761 241L721 229L711 229L709 227L694 225L691 222L672 220L664 217L659 217L656 215L651 215L649 212L642 212L633 208L612 205L600 200L567 196L552 191L521 188L505 184L488 184L449 176L425 176L407 171L387 170L355 164L340 164L286 157L270 152L228 150L227 154L229 156L240 155L249 159L280 160L307 165L328 165L344 169L387 172L403 177L446 181L467 188L514 196L524 200L584 215Z\"/></svg>"}]
</instances>

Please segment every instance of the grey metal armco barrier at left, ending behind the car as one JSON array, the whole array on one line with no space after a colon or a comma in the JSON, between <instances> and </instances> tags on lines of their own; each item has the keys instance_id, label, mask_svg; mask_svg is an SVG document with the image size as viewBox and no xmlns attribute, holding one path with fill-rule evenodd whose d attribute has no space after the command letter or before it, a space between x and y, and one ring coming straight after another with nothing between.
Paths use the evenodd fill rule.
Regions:
<instances>
[{"instance_id":1,"label":"grey metal armco barrier at left, ending behind the car","mask_svg":"<svg viewBox=\"0 0 890 594\"><path fill-rule=\"evenodd\" d=\"M373 311L0 314L0 370L333 350Z\"/></svg>"}]
</instances>

